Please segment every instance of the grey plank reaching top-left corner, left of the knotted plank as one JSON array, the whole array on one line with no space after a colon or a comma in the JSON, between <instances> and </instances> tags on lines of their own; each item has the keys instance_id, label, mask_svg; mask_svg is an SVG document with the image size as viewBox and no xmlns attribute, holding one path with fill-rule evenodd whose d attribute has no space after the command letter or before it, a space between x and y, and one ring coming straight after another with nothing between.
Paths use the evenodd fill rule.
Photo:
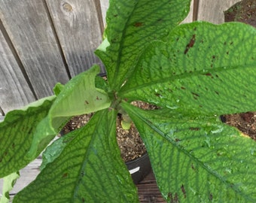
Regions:
<instances>
[{"instance_id":1,"label":"grey plank reaching top-left corner, left of the knotted plank","mask_svg":"<svg viewBox=\"0 0 256 203\"><path fill-rule=\"evenodd\" d=\"M1 0L0 17L38 98L69 80L42 0Z\"/></svg>"}]
</instances>

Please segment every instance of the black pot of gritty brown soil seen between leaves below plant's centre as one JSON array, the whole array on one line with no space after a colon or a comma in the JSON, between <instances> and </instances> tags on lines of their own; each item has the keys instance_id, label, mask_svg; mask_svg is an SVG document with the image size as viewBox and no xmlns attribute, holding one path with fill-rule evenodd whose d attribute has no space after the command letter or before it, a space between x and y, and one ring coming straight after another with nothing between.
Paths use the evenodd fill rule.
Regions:
<instances>
[{"instance_id":1,"label":"black pot of gritty brown soil seen between leaves below plant's centre","mask_svg":"<svg viewBox=\"0 0 256 203\"><path fill-rule=\"evenodd\" d=\"M145 109L154 109L152 105L145 104L143 102L136 102L136 106ZM84 114L76 117L72 117L71 120L64 126L60 135L66 135L69 132L79 129L86 125L87 122L93 114ZM146 177L151 171L151 164L148 157L148 153L145 149L145 144L142 138L139 136L139 132L133 123L130 123L129 117L126 119L127 115L118 114L116 123L116 134L117 134L117 144L120 148L120 154L123 161L126 164L127 169L133 178L133 183L137 184ZM54 153L51 152L43 153L43 156L49 156ZM44 161L47 157L44 157Z\"/></svg>"}]
</instances>

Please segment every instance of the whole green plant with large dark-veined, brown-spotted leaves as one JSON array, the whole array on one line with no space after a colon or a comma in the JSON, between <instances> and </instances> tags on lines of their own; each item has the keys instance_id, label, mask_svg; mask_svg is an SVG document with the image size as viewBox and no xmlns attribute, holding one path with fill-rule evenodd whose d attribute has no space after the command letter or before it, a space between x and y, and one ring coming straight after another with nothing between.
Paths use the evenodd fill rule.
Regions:
<instances>
[{"instance_id":1,"label":"whole green plant with large dark-veined, brown-spotted leaves","mask_svg":"<svg viewBox=\"0 0 256 203\"><path fill-rule=\"evenodd\" d=\"M14 202L138 202L117 147L118 112L139 130L166 201L256 201L256 144L219 120L255 111L256 30L242 23L178 25L189 5L111 0L96 50L108 81L96 76L94 65L57 84L56 95L6 115L0 174L11 179L70 117L96 112L47 148L55 148L55 156ZM159 108L145 111L133 101Z\"/></svg>"}]
</instances>

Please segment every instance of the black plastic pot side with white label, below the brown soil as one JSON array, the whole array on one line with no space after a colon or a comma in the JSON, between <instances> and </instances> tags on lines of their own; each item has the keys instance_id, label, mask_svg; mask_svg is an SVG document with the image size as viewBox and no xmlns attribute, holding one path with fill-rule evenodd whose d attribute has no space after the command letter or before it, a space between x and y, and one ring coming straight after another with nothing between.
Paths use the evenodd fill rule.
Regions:
<instances>
[{"instance_id":1,"label":"black plastic pot side with white label, below the brown soil","mask_svg":"<svg viewBox=\"0 0 256 203\"><path fill-rule=\"evenodd\" d=\"M126 162L126 166L133 178L133 183L139 183L151 171L151 162L149 161L148 153L145 153L137 159Z\"/></svg>"}]
</instances>

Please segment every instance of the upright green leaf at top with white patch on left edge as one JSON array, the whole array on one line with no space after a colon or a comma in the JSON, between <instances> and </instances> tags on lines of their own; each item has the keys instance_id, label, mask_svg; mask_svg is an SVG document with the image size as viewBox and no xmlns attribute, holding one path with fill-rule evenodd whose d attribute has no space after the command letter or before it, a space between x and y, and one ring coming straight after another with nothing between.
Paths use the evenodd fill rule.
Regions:
<instances>
[{"instance_id":1,"label":"upright green leaf at top with white patch on left edge","mask_svg":"<svg viewBox=\"0 0 256 203\"><path fill-rule=\"evenodd\" d=\"M108 73L111 89L118 90L133 71L138 56L156 39L163 39L190 9L190 0L112 0L107 13L105 41L96 50Z\"/></svg>"}]
</instances>

